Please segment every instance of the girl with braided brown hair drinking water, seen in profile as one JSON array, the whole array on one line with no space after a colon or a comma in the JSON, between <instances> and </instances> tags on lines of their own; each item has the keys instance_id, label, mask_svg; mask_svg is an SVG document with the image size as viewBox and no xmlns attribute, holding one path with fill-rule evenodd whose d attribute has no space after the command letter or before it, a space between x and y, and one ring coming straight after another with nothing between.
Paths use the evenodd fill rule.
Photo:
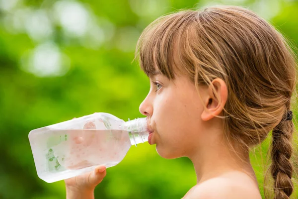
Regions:
<instances>
[{"instance_id":1,"label":"girl with braided brown hair drinking water, seen in profile","mask_svg":"<svg viewBox=\"0 0 298 199\"><path fill-rule=\"evenodd\" d=\"M237 6L162 16L137 44L150 91L140 105L151 117L149 144L163 158L188 157L197 185L184 199L261 199L249 149L272 130L273 195L289 199L293 151L294 54L283 36ZM91 199L105 167L66 180L69 199Z\"/></svg>"}]
</instances>

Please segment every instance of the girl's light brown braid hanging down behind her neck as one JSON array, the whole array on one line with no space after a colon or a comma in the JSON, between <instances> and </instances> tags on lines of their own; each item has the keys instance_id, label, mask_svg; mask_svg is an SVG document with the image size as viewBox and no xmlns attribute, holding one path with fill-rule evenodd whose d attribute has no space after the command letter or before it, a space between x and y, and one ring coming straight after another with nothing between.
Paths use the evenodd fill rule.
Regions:
<instances>
[{"instance_id":1,"label":"girl's light brown braid hanging down behind her neck","mask_svg":"<svg viewBox=\"0 0 298 199\"><path fill-rule=\"evenodd\" d=\"M292 120L282 121L272 130L271 175L274 179L274 199L290 199L294 190L291 181L293 165L290 161L293 152L292 134L294 124Z\"/></svg>"}]
</instances>

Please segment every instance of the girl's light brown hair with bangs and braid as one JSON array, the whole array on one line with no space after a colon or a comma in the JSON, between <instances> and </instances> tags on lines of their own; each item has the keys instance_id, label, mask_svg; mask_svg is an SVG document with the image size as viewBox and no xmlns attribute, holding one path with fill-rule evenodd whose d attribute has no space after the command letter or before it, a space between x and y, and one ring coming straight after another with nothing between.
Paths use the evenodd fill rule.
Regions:
<instances>
[{"instance_id":1,"label":"girl's light brown hair with bangs and braid","mask_svg":"<svg viewBox=\"0 0 298 199\"><path fill-rule=\"evenodd\" d=\"M290 160L294 123L285 117L297 71L294 53L281 33L238 6L179 10L149 24L135 58L148 76L155 67L170 80L186 74L197 88L223 79L228 90L225 137L229 143L250 148L272 130L269 171L275 199L289 199L294 189Z\"/></svg>"}]
</instances>

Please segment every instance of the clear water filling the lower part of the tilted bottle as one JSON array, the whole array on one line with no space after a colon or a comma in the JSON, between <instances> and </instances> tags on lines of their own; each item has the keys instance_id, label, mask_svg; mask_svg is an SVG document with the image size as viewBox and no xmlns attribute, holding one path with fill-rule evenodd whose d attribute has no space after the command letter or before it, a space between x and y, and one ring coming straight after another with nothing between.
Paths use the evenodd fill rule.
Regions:
<instances>
[{"instance_id":1,"label":"clear water filling the lower part of the tilted bottle","mask_svg":"<svg viewBox=\"0 0 298 199\"><path fill-rule=\"evenodd\" d=\"M38 129L29 134L38 176L51 183L92 171L97 165L107 168L123 160L131 147L123 130Z\"/></svg>"}]
</instances>

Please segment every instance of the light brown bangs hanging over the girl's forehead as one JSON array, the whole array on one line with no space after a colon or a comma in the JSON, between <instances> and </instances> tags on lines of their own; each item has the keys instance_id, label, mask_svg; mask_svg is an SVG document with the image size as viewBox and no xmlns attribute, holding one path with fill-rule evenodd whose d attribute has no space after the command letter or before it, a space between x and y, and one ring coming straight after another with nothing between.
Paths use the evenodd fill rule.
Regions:
<instances>
[{"instance_id":1,"label":"light brown bangs hanging over the girl's forehead","mask_svg":"<svg viewBox=\"0 0 298 199\"><path fill-rule=\"evenodd\" d=\"M181 11L161 16L149 24L142 32L136 49L135 58L139 58L141 69L148 77L154 76L156 71L169 80L174 80L179 73L179 63L175 63L174 47L178 49L175 60L179 59L183 32L186 29L186 20L193 11Z\"/></svg>"}]
</instances>

